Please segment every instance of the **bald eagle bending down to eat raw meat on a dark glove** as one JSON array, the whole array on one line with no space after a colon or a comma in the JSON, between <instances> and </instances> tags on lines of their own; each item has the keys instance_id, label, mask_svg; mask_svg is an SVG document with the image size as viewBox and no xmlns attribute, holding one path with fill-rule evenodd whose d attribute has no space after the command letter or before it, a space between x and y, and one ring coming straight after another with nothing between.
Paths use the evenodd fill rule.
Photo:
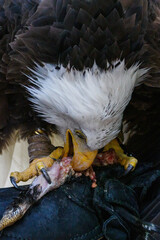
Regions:
<instances>
[{"instance_id":1,"label":"bald eagle bending down to eat raw meat on a dark glove","mask_svg":"<svg viewBox=\"0 0 160 240\"><path fill-rule=\"evenodd\" d=\"M135 109L153 103L134 95L160 86L159 11L147 0L0 0L0 149L14 130L37 134L39 150L52 132L65 142L32 154L29 170L11 174L15 186L37 168L50 182L45 167L62 155L84 171L112 148L125 169L136 166L116 138L122 122L137 133Z\"/></svg>"}]
</instances>

